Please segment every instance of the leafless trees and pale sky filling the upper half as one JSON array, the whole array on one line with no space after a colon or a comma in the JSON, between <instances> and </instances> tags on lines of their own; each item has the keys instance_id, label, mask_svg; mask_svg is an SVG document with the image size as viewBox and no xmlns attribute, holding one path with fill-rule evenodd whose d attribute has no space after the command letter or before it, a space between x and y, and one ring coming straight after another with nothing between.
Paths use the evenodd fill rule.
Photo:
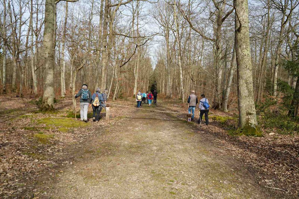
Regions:
<instances>
[{"instance_id":1,"label":"leafless trees and pale sky filling the upper half","mask_svg":"<svg viewBox=\"0 0 299 199\"><path fill-rule=\"evenodd\" d=\"M240 114L255 115L254 102L280 97L281 82L295 90L284 63L298 61L298 3L2 0L2 92L43 96L51 109L83 83L113 101L156 87L184 102L196 90L214 108L239 98Z\"/></svg>"}]
</instances>

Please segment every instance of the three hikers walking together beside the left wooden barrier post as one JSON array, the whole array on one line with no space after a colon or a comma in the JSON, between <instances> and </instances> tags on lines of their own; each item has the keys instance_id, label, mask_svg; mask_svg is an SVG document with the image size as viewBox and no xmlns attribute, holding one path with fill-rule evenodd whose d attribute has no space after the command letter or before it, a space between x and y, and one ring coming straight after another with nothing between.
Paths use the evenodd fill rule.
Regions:
<instances>
[{"instance_id":1,"label":"three hikers walking together beside the left wooden barrier post","mask_svg":"<svg viewBox=\"0 0 299 199\"><path fill-rule=\"evenodd\" d=\"M94 94L91 95L90 90L88 90L87 84L83 84L82 88L79 90L75 98L80 97L80 119L81 121L87 122L87 111L88 107L92 106L92 120L98 122L100 120L101 111L106 108L107 102L107 92L105 89L102 93L100 88L97 88Z\"/></svg>"}]
</instances>

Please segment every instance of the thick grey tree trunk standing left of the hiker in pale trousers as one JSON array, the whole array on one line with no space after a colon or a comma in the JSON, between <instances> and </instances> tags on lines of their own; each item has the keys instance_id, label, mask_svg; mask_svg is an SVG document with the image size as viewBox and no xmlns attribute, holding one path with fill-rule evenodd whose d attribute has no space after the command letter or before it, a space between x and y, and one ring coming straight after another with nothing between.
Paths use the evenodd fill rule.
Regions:
<instances>
[{"instance_id":1,"label":"thick grey tree trunk standing left of the hiker in pale trousers","mask_svg":"<svg viewBox=\"0 0 299 199\"><path fill-rule=\"evenodd\" d=\"M54 110L54 18L55 1L46 0L45 2L45 27L43 41L44 57L44 93L42 97L43 111Z\"/></svg>"}]
</instances>

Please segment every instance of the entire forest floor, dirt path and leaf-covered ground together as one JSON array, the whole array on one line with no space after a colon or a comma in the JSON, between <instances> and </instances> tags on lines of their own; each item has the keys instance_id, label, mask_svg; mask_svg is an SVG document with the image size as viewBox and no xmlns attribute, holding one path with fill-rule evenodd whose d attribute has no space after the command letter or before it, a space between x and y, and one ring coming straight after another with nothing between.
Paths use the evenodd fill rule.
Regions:
<instances>
[{"instance_id":1,"label":"entire forest floor, dirt path and leaf-covered ground together","mask_svg":"<svg viewBox=\"0 0 299 199\"><path fill-rule=\"evenodd\" d=\"M14 107L18 101L21 106ZM161 102L142 108L183 111L180 104ZM263 151L260 141L226 138L216 120L201 127L173 114L112 106L111 120L84 123L72 118L70 99L60 100L57 111L47 114L34 103L0 98L0 198L297 196L292 173L298 172L297 162L289 168L291 185L278 186L279 172L269 175L254 166L257 158L250 149ZM133 100L118 104L135 105ZM241 147L244 140L247 153Z\"/></svg>"}]
</instances>

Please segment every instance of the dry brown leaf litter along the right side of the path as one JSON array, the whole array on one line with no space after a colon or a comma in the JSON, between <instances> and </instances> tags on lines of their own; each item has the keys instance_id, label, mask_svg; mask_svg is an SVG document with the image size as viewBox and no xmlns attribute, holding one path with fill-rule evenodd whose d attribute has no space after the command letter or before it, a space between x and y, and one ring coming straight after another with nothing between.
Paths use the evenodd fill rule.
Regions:
<instances>
[{"instance_id":1,"label":"dry brown leaf litter along the right side of the path","mask_svg":"<svg viewBox=\"0 0 299 199\"><path fill-rule=\"evenodd\" d=\"M186 104L178 101L164 101L162 107L169 111L187 112ZM209 115L232 116L235 113L224 113L211 109ZM184 116L178 116L183 118ZM196 111L195 118L199 118ZM234 122L231 125L236 125ZM277 190L286 198L297 198L299 187L299 135L280 135L264 133L263 138L246 136L229 136L228 127L210 119L210 125L201 127L199 132L210 137L215 144L221 143L221 148L235 158L245 161L256 174L256 179L264 186L285 190ZM263 130L263 129L262 129ZM282 196L282 197L283 197Z\"/></svg>"}]
</instances>

